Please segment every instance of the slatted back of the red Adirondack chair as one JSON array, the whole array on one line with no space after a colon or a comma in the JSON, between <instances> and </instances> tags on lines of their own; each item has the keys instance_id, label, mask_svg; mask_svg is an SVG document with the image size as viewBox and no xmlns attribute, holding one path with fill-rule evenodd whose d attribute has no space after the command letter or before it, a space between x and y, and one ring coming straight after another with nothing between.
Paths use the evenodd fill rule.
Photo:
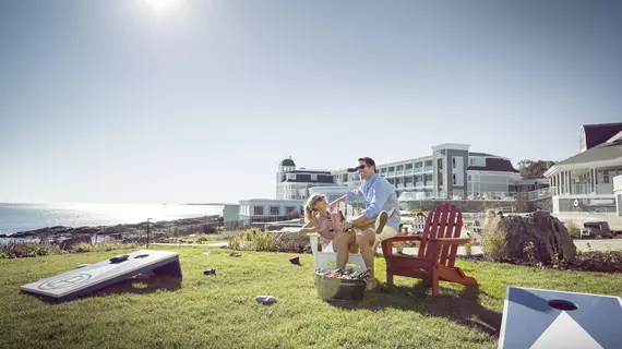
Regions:
<instances>
[{"instance_id":1,"label":"slatted back of the red Adirondack chair","mask_svg":"<svg viewBox=\"0 0 622 349\"><path fill-rule=\"evenodd\" d=\"M459 238L463 227L463 214L456 205L444 203L431 210L426 219L426 228L419 246L419 257L431 260L432 249L428 241L435 238ZM450 267L454 266L457 245L443 245L439 253L438 263Z\"/></svg>"}]
</instances>

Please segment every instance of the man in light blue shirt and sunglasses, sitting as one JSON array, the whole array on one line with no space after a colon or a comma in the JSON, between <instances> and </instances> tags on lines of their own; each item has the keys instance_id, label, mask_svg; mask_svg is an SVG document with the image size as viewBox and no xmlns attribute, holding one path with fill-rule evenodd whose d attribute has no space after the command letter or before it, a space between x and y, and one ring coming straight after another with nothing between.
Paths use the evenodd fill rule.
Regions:
<instances>
[{"instance_id":1,"label":"man in light blue shirt and sunglasses, sitting","mask_svg":"<svg viewBox=\"0 0 622 349\"><path fill-rule=\"evenodd\" d=\"M399 205L395 189L388 181L375 173L375 163L369 157L358 159L357 170L363 183L332 203L332 207L339 202L352 202L362 198L364 210L358 217L350 218L344 230L354 227L356 242L360 246L361 256L370 269L368 290L378 286L373 273L373 256L380 243L393 238L399 230ZM387 214L390 213L390 214ZM378 219L376 219L378 218ZM375 224L374 224L375 222ZM374 225L374 226L370 226ZM347 249L351 241L339 241L337 249Z\"/></svg>"}]
</instances>

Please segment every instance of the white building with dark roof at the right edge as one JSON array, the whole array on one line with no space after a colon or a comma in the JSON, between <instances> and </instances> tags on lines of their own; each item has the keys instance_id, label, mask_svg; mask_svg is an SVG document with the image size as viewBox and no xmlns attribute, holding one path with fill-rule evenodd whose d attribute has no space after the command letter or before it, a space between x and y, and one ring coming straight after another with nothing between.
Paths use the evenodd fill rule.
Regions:
<instances>
[{"instance_id":1,"label":"white building with dark roof at the right edge","mask_svg":"<svg viewBox=\"0 0 622 349\"><path fill-rule=\"evenodd\" d=\"M613 178L622 174L622 123L585 124L579 153L552 166L553 213L615 212Z\"/></svg>"}]
</instances>

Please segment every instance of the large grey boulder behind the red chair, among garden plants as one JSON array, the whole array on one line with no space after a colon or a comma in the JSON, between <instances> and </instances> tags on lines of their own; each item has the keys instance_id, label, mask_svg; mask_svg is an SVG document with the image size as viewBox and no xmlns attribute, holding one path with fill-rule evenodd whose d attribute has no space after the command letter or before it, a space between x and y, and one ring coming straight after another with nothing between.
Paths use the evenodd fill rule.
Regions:
<instances>
[{"instance_id":1,"label":"large grey boulder behind the red chair, among garden plants","mask_svg":"<svg viewBox=\"0 0 622 349\"><path fill-rule=\"evenodd\" d=\"M505 236L505 258L550 265L558 260L571 262L576 246L566 227L548 212L527 216L489 216L483 233L500 229Z\"/></svg>"}]
</instances>

